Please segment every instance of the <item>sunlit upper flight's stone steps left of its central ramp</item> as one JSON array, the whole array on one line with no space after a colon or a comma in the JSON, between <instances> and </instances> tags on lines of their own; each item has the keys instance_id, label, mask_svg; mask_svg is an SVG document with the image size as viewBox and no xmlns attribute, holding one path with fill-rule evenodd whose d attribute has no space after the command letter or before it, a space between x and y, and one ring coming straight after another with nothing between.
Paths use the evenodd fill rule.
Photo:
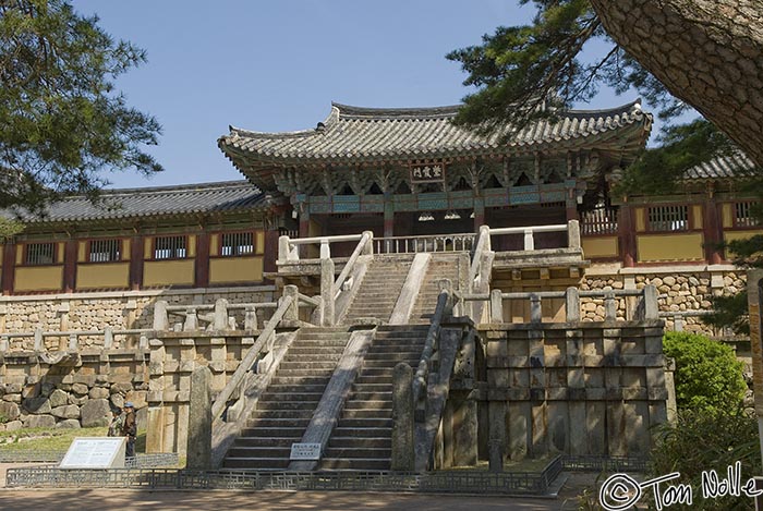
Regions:
<instances>
[{"instance_id":1,"label":"sunlit upper flight's stone steps left of its central ramp","mask_svg":"<svg viewBox=\"0 0 763 511\"><path fill-rule=\"evenodd\" d=\"M367 317L389 321L412 260L412 255L375 256L344 316L344 323L351 324L354 319Z\"/></svg>"}]
</instances>

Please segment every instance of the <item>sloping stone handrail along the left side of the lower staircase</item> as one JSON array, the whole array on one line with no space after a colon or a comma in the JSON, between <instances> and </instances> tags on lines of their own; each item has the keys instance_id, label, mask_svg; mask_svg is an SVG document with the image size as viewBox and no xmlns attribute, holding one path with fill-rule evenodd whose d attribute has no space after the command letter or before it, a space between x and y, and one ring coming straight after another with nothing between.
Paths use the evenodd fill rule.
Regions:
<instances>
[{"instance_id":1,"label":"sloping stone handrail along the left side of the lower staircase","mask_svg":"<svg viewBox=\"0 0 763 511\"><path fill-rule=\"evenodd\" d=\"M246 354L242 358L239 367L237 367L233 375L228 380L226 387L220 391L211 405L211 421L217 421L222 412L226 410L228 400L238 390L239 386L244 381L246 373L252 369L254 362L257 360L263 351L269 351L271 349L272 340L276 333L276 327L282 319L298 319L298 302L299 292L295 285L287 285L283 290L283 296L280 300L280 304L272 317L263 329L263 331L257 337L257 340L252 344L246 351Z\"/></svg>"}]
</instances>

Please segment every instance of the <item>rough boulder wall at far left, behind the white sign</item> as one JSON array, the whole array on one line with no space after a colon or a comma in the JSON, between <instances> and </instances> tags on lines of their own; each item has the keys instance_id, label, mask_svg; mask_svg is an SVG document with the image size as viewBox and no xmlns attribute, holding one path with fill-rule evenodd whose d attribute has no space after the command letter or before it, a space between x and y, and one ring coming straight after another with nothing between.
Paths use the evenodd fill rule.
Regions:
<instances>
[{"instance_id":1,"label":"rough boulder wall at far left, behind the white sign","mask_svg":"<svg viewBox=\"0 0 763 511\"><path fill-rule=\"evenodd\" d=\"M125 401L145 422L146 350L8 352L0 357L0 430L107 426Z\"/></svg>"}]
</instances>

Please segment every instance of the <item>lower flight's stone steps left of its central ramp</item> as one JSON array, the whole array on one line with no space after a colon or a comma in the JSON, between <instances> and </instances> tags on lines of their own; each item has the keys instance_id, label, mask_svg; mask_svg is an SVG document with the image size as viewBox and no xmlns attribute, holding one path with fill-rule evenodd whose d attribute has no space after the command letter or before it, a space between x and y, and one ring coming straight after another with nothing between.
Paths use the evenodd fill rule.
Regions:
<instances>
[{"instance_id":1,"label":"lower flight's stone steps left of its central ramp","mask_svg":"<svg viewBox=\"0 0 763 511\"><path fill-rule=\"evenodd\" d=\"M291 445L302 440L349 339L346 328L299 330L246 427L228 450L223 469L288 467Z\"/></svg>"}]
</instances>

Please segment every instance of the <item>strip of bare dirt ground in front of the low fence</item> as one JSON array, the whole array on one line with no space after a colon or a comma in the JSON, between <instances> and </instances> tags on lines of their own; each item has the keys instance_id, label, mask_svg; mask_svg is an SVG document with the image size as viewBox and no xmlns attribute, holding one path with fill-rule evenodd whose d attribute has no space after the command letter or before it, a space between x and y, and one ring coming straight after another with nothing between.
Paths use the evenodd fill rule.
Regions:
<instances>
[{"instance_id":1,"label":"strip of bare dirt ground in front of the low fence","mask_svg":"<svg viewBox=\"0 0 763 511\"><path fill-rule=\"evenodd\" d=\"M373 494L343 491L230 491L230 490L145 490L145 489L16 489L4 488L5 470L0 464L0 508L5 511L39 510L300 510L300 511L410 511L415 510L573 510L576 496L595 474L570 474L555 499Z\"/></svg>"}]
</instances>

